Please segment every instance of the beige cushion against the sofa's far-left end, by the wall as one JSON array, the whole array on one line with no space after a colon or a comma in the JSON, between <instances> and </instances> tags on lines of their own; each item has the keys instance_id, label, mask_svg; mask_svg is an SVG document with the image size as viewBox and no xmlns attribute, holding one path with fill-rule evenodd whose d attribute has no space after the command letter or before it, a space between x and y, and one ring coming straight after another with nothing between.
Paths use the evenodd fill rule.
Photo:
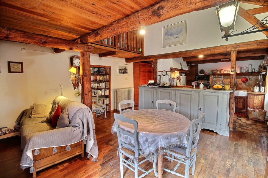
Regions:
<instances>
[{"instance_id":1,"label":"beige cushion against the sofa's far-left end, by the wall","mask_svg":"<svg viewBox=\"0 0 268 178\"><path fill-rule=\"evenodd\" d=\"M52 108L52 104L33 104L32 113L30 117L46 117Z\"/></svg>"}]
</instances>

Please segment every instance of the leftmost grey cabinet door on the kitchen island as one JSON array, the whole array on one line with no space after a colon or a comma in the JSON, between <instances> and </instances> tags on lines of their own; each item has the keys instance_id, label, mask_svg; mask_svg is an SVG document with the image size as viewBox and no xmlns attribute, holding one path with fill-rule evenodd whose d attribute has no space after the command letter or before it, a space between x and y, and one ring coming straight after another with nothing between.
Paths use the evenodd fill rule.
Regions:
<instances>
[{"instance_id":1,"label":"leftmost grey cabinet door on the kitchen island","mask_svg":"<svg viewBox=\"0 0 268 178\"><path fill-rule=\"evenodd\" d=\"M154 89L141 88L141 93L139 93L139 109L153 109L154 104Z\"/></svg>"}]
</instances>

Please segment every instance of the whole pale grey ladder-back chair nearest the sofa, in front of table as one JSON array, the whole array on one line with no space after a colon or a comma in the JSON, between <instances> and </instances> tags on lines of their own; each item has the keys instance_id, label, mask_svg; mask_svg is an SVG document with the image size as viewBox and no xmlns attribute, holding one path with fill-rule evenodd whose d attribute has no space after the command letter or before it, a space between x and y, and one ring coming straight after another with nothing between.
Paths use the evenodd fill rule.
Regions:
<instances>
[{"instance_id":1,"label":"whole pale grey ladder-back chair nearest the sofa, in front of table","mask_svg":"<svg viewBox=\"0 0 268 178\"><path fill-rule=\"evenodd\" d=\"M127 122L133 125L134 128L134 133L131 133L129 131L124 131L121 128L119 128L118 125L118 120L120 120L121 122ZM126 166L128 169L134 171L135 173L135 178L141 178L144 177L146 175L148 175L150 172L152 172L154 170L155 172L155 176L158 177L158 173L156 172L156 154L154 154L154 161L153 161L153 168L149 169L148 171L145 171L144 169L142 169L141 167L139 167L139 165L141 163L144 163L145 161L147 161L148 159L144 159L141 162L139 162L140 158L143 158L143 155L139 154L139 144L138 144L138 134L137 134L137 129L138 129L138 122L136 120L131 120L128 117L124 117L120 114L114 114L114 120L116 123L116 132L117 132L117 138L118 138L118 143L119 143L119 160L120 160L120 174L121 174L121 178L123 178L123 165ZM131 144L126 144L125 142L121 141L121 135L127 135L130 136L134 139L134 147ZM127 156L128 158L130 158L129 160L126 160L123 158L123 155ZM132 166L132 167L130 167ZM134 169L133 169L134 168ZM143 174L141 174L138 177L138 169L141 170L142 172L144 172Z\"/></svg>"}]
</instances>

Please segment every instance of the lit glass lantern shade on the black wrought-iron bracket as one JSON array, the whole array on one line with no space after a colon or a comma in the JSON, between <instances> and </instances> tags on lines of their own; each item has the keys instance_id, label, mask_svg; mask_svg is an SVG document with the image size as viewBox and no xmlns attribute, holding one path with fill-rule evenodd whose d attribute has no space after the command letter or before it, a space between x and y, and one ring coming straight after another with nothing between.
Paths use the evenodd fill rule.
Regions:
<instances>
[{"instance_id":1,"label":"lit glass lantern shade on the black wrought-iron bracket","mask_svg":"<svg viewBox=\"0 0 268 178\"><path fill-rule=\"evenodd\" d=\"M224 36L230 35L230 30L234 29L238 9L239 2L236 1L230 1L216 8L220 29L222 32L225 31Z\"/></svg>"}]
</instances>

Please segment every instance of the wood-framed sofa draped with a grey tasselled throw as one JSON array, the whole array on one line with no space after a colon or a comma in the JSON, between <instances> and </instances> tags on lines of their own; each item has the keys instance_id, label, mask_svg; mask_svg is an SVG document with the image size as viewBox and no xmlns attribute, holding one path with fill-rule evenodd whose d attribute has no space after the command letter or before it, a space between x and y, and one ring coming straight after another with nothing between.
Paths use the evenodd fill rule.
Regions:
<instances>
[{"instance_id":1,"label":"wood-framed sofa draped with a grey tasselled throw","mask_svg":"<svg viewBox=\"0 0 268 178\"><path fill-rule=\"evenodd\" d=\"M21 168L30 167L30 173L36 177L36 171L81 154L84 156L84 144L88 158L97 161L98 146L95 124L91 110L80 102L57 96L52 106L60 105L68 112L69 126L55 129L51 123L40 123L46 117L31 118L32 109L25 109L19 115L21 134Z\"/></svg>"}]
</instances>

